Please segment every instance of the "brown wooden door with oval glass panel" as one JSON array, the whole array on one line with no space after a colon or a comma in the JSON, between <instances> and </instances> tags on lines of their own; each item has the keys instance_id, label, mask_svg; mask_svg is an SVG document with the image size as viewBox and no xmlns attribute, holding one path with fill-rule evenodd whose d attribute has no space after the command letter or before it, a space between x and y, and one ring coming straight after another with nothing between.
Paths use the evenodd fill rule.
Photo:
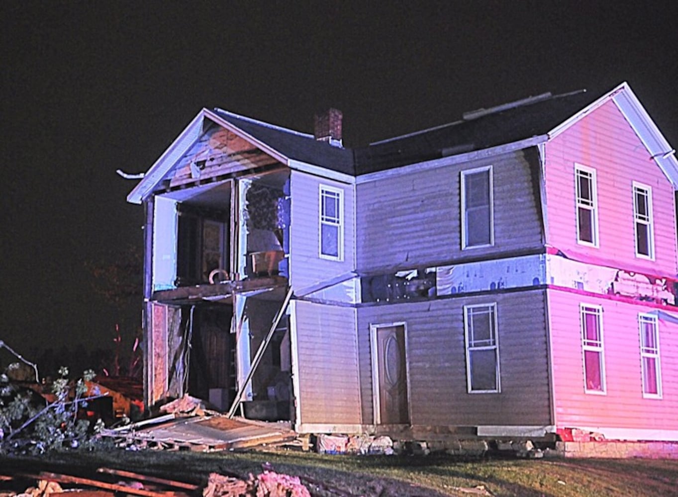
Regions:
<instances>
[{"instance_id":1,"label":"brown wooden door with oval glass panel","mask_svg":"<svg viewBox=\"0 0 678 497\"><path fill-rule=\"evenodd\" d=\"M405 325L375 326L377 423L397 425L410 423L407 402L407 366L405 358Z\"/></svg>"}]
</instances>

